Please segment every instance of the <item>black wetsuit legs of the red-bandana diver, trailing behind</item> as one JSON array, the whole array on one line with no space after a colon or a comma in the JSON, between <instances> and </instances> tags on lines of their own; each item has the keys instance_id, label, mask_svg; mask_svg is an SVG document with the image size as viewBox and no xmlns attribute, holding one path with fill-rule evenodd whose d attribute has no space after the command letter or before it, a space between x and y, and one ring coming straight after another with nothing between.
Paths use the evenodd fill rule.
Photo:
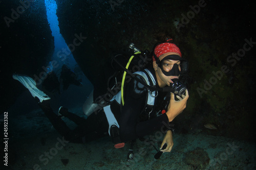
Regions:
<instances>
[{"instance_id":1,"label":"black wetsuit legs of the red-bandana diver, trailing behind","mask_svg":"<svg viewBox=\"0 0 256 170\"><path fill-rule=\"evenodd\" d=\"M66 140L74 143L84 143L106 135L104 132L108 130L109 125L103 112L92 114L87 119L84 119L64 109L61 115L69 118L77 125L75 129L71 130L60 116L53 112L50 107L50 101L51 100L43 101L39 103L39 106L45 112L53 127L60 135L64 136Z\"/></svg>"}]
</instances>

